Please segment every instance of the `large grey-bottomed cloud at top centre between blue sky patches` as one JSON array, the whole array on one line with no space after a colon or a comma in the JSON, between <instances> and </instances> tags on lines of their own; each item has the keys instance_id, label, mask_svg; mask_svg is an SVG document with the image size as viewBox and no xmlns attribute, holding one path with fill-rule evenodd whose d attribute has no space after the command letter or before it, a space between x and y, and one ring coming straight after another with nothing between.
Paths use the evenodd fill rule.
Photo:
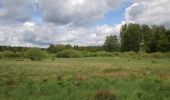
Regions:
<instances>
[{"instance_id":1,"label":"large grey-bottomed cloud at top centre between blue sky patches","mask_svg":"<svg viewBox=\"0 0 170 100\"><path fill-rule=\"evenodd\" d=\"M121 0L39 0L46 22L90 25L105 13L120 6Z\"/></svg>"}]
</instances>

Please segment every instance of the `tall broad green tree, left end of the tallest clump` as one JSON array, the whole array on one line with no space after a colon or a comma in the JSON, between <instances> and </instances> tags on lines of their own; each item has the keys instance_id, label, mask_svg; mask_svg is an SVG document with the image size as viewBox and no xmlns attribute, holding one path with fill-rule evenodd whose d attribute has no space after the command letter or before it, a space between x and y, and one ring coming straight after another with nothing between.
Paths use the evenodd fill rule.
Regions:
<instances>
[{"instance_id":1,"label":"tall broad green tree, left end of the tallest clump","mask_svg":"<svg viewBox=\"0 0 170 100\"><path fill-rule=\"evenodd\" d=\"M121 51L135 51L140 50L142 41L141 27L139 24L125 24L121 29Z\"/></svg>"}]
</instances>

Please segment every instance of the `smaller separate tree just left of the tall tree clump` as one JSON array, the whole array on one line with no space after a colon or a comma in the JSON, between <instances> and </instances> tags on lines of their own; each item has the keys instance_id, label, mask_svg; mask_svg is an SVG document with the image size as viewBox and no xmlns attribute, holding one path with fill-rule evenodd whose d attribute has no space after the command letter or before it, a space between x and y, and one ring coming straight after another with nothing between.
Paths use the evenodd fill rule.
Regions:
<instances>
[{"instance_id":1,"label":"smaller separate tree just left of the tall tree clump","mask_svg":"<svg viewBox=\"0 0 170 100\"><path fill-rule=\"evenodd\" d=\"M109 52L118 51L119 44L118 44L118 38L116 35L110 35L106 37L105 43L104 43L104 49Z\"/></svg>"}]
</instances>

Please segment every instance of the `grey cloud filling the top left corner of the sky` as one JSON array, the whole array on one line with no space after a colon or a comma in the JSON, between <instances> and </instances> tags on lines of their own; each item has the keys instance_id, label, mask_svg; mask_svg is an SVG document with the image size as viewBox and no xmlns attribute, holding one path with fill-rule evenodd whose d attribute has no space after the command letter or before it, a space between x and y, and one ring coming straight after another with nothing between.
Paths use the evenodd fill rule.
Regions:
<instances>
[{"instance_id":1,"label":"grey cloud filling the top left corner of the sky","mask_svg":"<svg viewBox=\"0 0 170 100\"><path fill-rule=\"evenodd\" d=\"M31 19L28 6L29 0L1 0L0 23L6 24L13 21L24 22Z\"/></svg>"}]
</instances>

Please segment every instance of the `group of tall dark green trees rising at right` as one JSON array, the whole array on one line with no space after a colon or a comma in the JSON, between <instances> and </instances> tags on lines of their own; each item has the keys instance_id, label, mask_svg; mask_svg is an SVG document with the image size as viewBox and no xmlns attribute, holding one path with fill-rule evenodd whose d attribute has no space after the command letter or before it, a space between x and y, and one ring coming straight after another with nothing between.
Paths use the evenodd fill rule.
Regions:
<instances>
[{"instance_id":1,"label":"group of tall dark green trees rising at right","mask_svg":"<svg viewBox=\"0 0 170 100\"><path fill-rule=\"evenodd\" d=\"M170 30L164 26L125 24L120 30L120 41L116 35L106 37L104 48L106 51L170 51Z\"/></svg>"}]
</instances>

